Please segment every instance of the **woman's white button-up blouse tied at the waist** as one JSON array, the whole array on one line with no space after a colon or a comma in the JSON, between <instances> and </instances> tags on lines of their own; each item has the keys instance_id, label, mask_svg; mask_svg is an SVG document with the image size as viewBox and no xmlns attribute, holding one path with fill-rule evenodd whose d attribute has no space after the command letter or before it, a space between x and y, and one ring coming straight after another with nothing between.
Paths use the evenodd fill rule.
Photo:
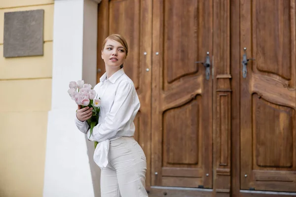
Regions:
<instances>
[{"instance_id":1,"label":"woman's white button-up blouse tied at the waist","mask_svg":"<svg viewBox=\"0 0 296 197\"><path fill-rule=\"evenodd\" d=\"M134 119L140 108L140 101L133 81L124 73L123 68L106 79L104 73L94 90L96 98L101 98L99 123L89 136L87 122L75 119L79 131L87 134L91 141L100 142L94 152L94 161L101 168L108 164L110 140L120 136L133 136L135 132Z\"/></svg>"}]
</instances>

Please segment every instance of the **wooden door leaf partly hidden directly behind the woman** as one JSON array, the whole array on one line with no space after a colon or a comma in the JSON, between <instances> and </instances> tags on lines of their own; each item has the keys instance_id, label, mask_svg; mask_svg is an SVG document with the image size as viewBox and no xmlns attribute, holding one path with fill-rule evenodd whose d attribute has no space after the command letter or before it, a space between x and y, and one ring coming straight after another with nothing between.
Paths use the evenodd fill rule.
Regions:
<instances>
[{"instance_id":1,"label":"wooden door leaf partly hidden directly behind the woman","mask_svg":"<svg viewBox=\"0 0 296 197\"><path fill-rule=\"evenodd\" d=\"M151 131L151 0L102 0L98 7L98 74L97 81L105 72L101 59L102 43L112 34L123 35L128 43L128 56L124 63L125 73L133 80L141 107L134 120L135 139L142 146L147 158L147 174L150 174ZM146 179L149 187L150 177Z\"/></svg>"}]
</instances>

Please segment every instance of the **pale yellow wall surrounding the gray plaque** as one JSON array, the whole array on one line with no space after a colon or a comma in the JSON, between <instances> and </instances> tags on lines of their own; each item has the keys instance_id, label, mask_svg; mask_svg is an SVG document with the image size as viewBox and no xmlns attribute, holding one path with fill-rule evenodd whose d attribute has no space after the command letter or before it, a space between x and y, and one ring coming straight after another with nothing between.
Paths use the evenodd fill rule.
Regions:
<instances>
[{"instance_id":1,"label":"pale yellow wall surrounding the gray plaque","mask_svg":"<svg viewBox=\"0 0 296 197\"><path fill-rule=\"evenodd\" d=\"M42 197L54 0L0 0L0 197ZM3 57L4 12L44 9L43 56Z\"/></svg>"}]
</instances>

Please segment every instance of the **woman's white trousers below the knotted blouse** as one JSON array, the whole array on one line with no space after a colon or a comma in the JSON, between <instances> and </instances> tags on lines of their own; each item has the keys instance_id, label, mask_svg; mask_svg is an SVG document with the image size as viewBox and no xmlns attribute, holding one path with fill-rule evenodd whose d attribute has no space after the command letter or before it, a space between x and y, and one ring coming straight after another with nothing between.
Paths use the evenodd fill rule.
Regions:
<instances>
[{"instance_id":1,"label":"woman's white trousers below the knotted blouse","mask_svg":"<svg viewBox=\"0 0 296 197\"><path fill-rule=\"evenodd\" d=\"M148 197L146 157L133 137L110 141L108 160L101 171L101 197Z\"/></svg>"}]
</instances>

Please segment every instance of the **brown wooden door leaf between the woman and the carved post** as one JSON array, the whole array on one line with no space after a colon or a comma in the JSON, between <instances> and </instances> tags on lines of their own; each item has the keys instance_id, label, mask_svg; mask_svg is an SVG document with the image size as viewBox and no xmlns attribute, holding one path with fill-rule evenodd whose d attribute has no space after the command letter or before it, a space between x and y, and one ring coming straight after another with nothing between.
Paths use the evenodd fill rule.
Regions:
<instances>
[{"instance_id":1,"label":"brown wooden door leaf between the woman and the carved post","mask_svg":"<svg viewBox=\"0 0 296 197\"><path fill-rule=\"evenodd\" d=\"M212 188L212 0L153 0L151 185Z\"/></svg>"}]
</instances>

